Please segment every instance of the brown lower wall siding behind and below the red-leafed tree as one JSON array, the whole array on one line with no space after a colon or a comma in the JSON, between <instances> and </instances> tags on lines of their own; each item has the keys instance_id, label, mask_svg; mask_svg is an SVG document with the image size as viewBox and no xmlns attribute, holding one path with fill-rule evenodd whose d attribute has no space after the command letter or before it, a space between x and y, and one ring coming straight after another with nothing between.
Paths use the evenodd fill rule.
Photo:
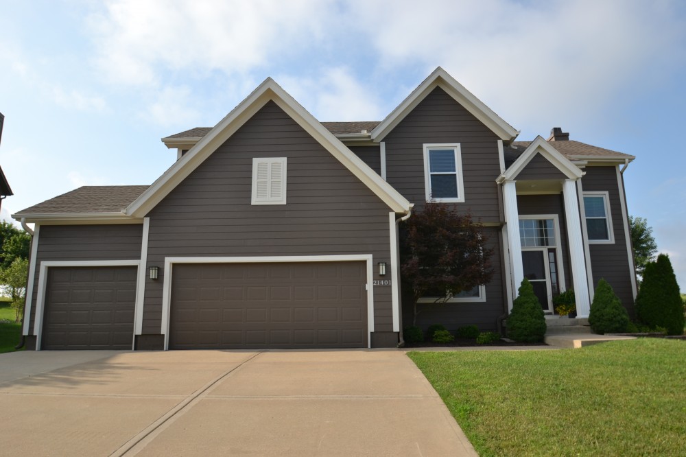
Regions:
<instances>
[{"instance_id":1,"label":"brown lower wall siding behind and below the red-leafed tree","mask_svg":"<svg viewBox=\"0 0 686 457\"><path fill-rule=\"evenodd\" d=\"M476 325L482 331L495 331L497 320L504 314L505 296L503 293L503 276L499 263L501 258L500 231L497 228L486 228L484 233L488 237L488 246L493 247L491 263L494 274L490 283L486 284L486 301L477 303L420 303L421 310L417 316L417 325L424 330L433 324L445 325L454 333L458 327ZM403 327L412 325L412 299L403 293Z\"/></svg>"}]
</instances>

